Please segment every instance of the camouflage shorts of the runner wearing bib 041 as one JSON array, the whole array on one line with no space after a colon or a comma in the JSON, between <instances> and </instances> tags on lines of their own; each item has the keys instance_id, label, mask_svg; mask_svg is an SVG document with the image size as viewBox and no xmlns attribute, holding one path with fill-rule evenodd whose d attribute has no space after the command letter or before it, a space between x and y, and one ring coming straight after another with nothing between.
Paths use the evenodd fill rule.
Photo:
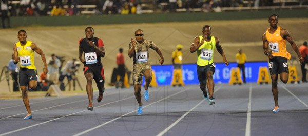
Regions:
<instances>
[{"instance_id":1,"label":"camouflage shorts of the runner wearing bib 041","mask_svg":"<svg viewBox=\"0 0 308 136\"><path fill-rule=\"evenodd\" d=\"M142 84L142 76L143 76L143 72L146 69L150 69L151 65L149 62L147 63L135 63L133 64L133 70L132 70L132 81L134 85L138 85L138 84Z\"/></svg>"}]
</instances>

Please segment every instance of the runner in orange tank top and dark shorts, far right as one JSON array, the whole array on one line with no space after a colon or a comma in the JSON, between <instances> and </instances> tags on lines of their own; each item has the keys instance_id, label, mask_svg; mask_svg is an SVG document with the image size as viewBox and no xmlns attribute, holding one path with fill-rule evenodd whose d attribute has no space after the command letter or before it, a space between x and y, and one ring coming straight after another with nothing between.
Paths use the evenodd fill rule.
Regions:
<instances>
[{"instance_id":1,"label":"runner in orange tank top and dark shorts, far right","mask_svg":"<svg viewBox=\"0 0 308 136\"><path fill-rule=\"evenodd\" d=\"M269 28L263 34L263 50L264 54L269 58L269 72L272 79L272 92L275 101L275 108L273 112L279 112L278 105L278 87L277 80L278 74L280 74L280 80L285 84L288 81L288 65L287 59L290 59L291 55L286 51L286 41L288 41L293 50L298 55L300 63L304 62L303 57L299 53L298 47L294 42L292 36L286 29L283 29L278 24L278 16L273 14L269 16ZM286 41L285 41L286 40Z\"/></svg>"}]
</instances>

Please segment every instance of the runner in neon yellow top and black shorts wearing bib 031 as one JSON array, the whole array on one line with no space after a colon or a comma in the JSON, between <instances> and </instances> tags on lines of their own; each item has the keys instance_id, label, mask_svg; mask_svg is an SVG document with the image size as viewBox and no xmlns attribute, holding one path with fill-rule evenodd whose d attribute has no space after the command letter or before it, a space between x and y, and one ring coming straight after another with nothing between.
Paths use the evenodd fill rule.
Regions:
<instances>
[{"instance_id":1,"label":"runner in neon yellow top and black shorts wearing bib 031","mask_svg":"<svg viewBox=\"0 0 308 136\"><path fill-rule=\"evenodd\" d=\"M194 43L190 46L190 52L194 53L197 51L198 59L197 59L197 74L198 80L200 83L200 89L203 92L204 98L207 100L207 92L206 86L208 88L209 93L209 104L215 104L215 99L213 98L214 93L214 80L213 74L215 72L215 64L214 64L214 49L217 48L217 51L222 56L225 65L228 66L229 62L227 61L225 54L223 52L222 47L219 44L219 40L217 37L211 36L211 27L205 25L202 28L203 36L197 36L194 39ZM208 82L206 82L208 79Z\"/></svg>"}]
</instances>

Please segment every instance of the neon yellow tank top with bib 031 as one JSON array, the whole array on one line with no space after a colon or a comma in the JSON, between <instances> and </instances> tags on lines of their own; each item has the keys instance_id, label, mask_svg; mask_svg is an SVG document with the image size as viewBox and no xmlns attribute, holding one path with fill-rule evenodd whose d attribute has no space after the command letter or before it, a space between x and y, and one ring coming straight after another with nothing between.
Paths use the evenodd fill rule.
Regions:
<instances>
[{"instance_id":1,"label":"neon yellow tank top with bib 031","mask_svg":"<svg viewBox=\"0 0 308 136\"><path fill-rule=\"evenodd\" d=\"M199 36L199 43L202 41L202 36ZM199 66L206 66L208 64L212 64L214 62L214 49L216 45L215 37L211 36L210 41L204 41L204 43L198 48L197 55L197 65Z\"/></svg>"}]
</instances>

